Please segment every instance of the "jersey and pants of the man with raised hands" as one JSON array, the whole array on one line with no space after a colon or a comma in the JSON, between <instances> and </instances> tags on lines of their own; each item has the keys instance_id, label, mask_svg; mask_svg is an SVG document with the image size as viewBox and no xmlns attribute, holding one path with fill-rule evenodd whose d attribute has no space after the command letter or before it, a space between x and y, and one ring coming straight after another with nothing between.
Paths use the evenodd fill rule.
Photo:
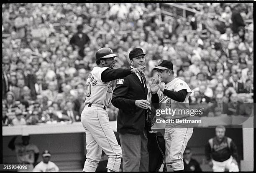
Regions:
<instances>
[{"instance_id":1,"label":"jersey and pants of the man with raised hands","mask_svg":"<svg viewBox=\"0 0 256 173\"><path fill-rule=\"evenodd\" d=\"M161 90L158 91L159 103L161 103L161 109L171 108L171 109L189 109L189 95L191 90L187 83L179 78L174 78L171 82L165 85L165 89L171 91L187 90L187 95L183 103L172 100L171 98L164 95ZM174 116L165 115L164 118L179 118L186 119L189 115L187 114L176 114ZM166 123L164 139L166 146L166 168L167 171L172 170L183 170L183 153L187 146L188 140L191 138L193 133L193 128L189 128L188 123Z\"/></svg>"}]
</instances>

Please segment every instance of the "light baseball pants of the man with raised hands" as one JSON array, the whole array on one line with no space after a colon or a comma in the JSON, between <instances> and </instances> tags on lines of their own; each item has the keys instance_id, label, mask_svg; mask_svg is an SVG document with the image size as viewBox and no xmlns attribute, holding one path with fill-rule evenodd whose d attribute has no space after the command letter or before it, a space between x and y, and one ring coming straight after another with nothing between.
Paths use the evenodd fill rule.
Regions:
<instances>
[{"instance_id":1,"label":"light baseball pants of the man with raised hands","mask_svg":"<svg viewBox=\"0 0 256 173\"><path fill-rule=\"evenodd\" d=\"M193 128L186 124L173 124L165 128L165 158L167 171L184 170L183 153Z\"/></svg>"}]
</instances>

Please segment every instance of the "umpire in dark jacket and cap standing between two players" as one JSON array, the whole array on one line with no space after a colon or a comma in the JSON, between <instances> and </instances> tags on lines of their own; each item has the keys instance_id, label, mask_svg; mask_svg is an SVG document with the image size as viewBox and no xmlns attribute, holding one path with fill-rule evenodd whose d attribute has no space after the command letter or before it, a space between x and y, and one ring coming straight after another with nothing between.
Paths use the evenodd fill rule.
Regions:
<instances>
[{"instance_id":1,"label":"umpire in dark jacket and cap standing between two players","mask_svg":"<svg viewBox=\"0 0 256 173\"><path fill-rule=\"evenodd\" d=\"M141 48L129 53L131 68L144 67L145 56ZM117 131L123 153L124 171L148 171L148 138L145 113L150 108L148 88L143 74L131 74L118 79L113 91L112 104L119 108Z\"/></svg>"}]
</instances>

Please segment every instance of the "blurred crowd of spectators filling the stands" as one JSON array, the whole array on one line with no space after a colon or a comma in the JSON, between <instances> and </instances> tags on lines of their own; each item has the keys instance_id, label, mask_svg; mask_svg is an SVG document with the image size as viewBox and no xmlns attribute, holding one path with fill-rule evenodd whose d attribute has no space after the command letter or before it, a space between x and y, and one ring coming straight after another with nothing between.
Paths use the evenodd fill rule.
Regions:
<instances>
[{"instance_id":1,"label":"blurred crowd of spectators filling the stands","mask_svg":"<svg viewBox=\"0 0 256 173\"><path fill-rule=\"evenodd\" d=\"M142 48L147 81L159 60L171 60L205 116L250 115L253 4L179 5L196 12L161 3L3 4L3 125L79 121L102 47L119 55L115 68L128 68L128 53ZM108 113L116 120L118 109Z\"/></svg>"}]
</instances>

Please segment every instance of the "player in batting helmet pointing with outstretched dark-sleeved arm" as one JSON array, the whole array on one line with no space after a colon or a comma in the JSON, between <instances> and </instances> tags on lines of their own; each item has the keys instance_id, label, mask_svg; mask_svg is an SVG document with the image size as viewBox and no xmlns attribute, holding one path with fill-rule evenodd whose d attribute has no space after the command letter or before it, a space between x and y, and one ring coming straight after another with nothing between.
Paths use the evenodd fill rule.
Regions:
<instances>
[{"instance_id":1,"label":"player in batting helmet pointing with outstretched dark-sleeved arm","mask_svg":"<svg viewBox=\"0 0 256 173\"><path fill-rule=\"evenodd\" d=\"M145 67L113 69L116 56L110 48L99 49L95 55L97 66L87 78L85 107L81 114L86 132L87 154L83 169L86 172L95 172L102 150L108 155L108 171L119 171L122 151L106 111L113 94L111 81L131 73L141 74Z\"/></svg>"}]
</instances>

